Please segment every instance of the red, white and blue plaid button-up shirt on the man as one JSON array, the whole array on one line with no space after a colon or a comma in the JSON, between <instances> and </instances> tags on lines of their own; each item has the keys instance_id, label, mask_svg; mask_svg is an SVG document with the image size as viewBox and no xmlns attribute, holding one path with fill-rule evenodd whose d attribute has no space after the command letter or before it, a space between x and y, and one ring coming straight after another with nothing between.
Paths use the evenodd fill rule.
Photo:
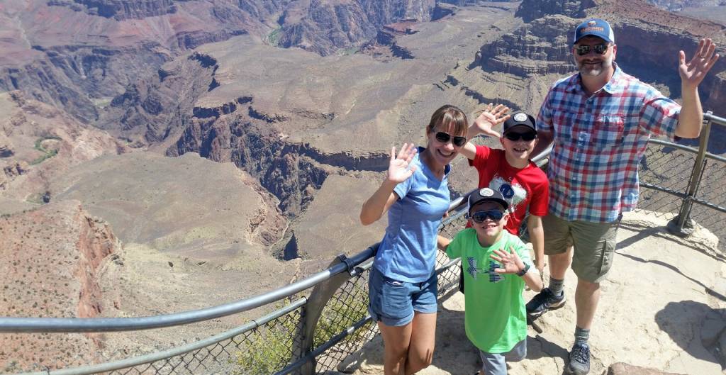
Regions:
<instances>
[{"instance_id":1,"label":"red, white and blue plaid button-up shirt on the man","mask_svg":"<svg viewBox=\"0 0 726 375\"><path fill-rule=\"evenodd\" d=\"M592 96L579 73L557 81L537 116L537 130L554 137L547 169L550 213L608 223L633 210L638 164L650 134L672 139L679 113L679 104L617 65Z\"/></svg>"}]
</instances>

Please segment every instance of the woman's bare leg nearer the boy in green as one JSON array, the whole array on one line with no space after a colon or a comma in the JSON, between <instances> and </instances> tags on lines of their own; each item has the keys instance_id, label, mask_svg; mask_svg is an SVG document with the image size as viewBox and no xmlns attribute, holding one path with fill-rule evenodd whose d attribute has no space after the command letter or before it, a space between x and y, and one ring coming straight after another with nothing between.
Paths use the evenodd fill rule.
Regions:
<instances>
[{"instance_id":1,"label":"woman's bare leg nearer the boy in green","mask_svg":"<svg viewBox=\"0 0 726 375\"><path fill-rule=\"evenodd\" d=\"M436 313L415 311L412 326L406 375L415 374L427 368L433 360L433 347L436 342Z\"/></svg>"}]
</instances>

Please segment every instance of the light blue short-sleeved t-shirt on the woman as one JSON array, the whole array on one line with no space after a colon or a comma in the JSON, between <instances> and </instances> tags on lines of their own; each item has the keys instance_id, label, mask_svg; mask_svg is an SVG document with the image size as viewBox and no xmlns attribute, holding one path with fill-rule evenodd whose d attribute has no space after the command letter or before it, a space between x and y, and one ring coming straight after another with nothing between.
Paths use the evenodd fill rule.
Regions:
<instances>
[{"instance_id":1,"label":"light blue short-sleeved t-shirt on the woman","mask_svg":"<svg viewBox=\"0 0 726 375\"><path fill-rule=\"evenodd\" d=\"M388 227L373 262L383 275L412 283L433 274L436 234L451 203L447 180L451 168L446 165L439 181L419 158L424 150L419 147L411 161L416 166L413 176L393 189L399 199L388 209Z\"/></svg>"}]
</instances>

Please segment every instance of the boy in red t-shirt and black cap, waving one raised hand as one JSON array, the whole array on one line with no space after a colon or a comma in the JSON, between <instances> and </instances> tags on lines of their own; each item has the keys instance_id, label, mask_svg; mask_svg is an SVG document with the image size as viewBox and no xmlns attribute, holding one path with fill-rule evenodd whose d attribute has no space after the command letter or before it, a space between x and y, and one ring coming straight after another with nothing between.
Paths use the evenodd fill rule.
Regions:
<instances>
[{"instance_id":1,"label":"boy in red t-shirt and black cap, waving one raised hand","mask_svg":"<svg viewBox=\"0 0 726 375\"><path fill-rule=\"evenodd\" d=\"M472 139L478 133L496 136L502 143L502 149L492 149L468 142L461 153L469 159L469 165L476 168L479 181L478 188L489 188L499 191L510 206L509 221L505 229L519 236L527 212L527 232L534 250L534 265L539 273L544 268L544 232L542 216L547 215L549 199L549 182L547 175L529 160L537 145L537 130L534 118L524 112L516 112L507 118L503 114L509 110L499 104L476 118L469 126L467 136ZM492 126L501 122L502 136L492 130ZM460 288L461 289L461 288ZM462 290L463 292L463 290Z\"/></svg>"}]
</instances>

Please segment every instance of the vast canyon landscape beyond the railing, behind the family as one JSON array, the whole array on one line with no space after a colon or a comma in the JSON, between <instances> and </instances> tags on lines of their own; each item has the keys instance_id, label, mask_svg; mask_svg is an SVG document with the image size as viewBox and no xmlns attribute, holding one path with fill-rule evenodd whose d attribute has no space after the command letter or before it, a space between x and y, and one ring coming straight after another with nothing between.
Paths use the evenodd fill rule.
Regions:
<instances>
[{"instance_id":1,"label":"vast canyon landscape beyond the railing, behind the family","mask_svg":"<svg viewBox=\"0 0 726 375\"><path fill-rule=\"evenodd\" d=\"M363 228L359 208L391 146L423 142L442 104L535 114L574 71L584 17L611 21L627 73L679 98L678 51L722 51L726 4L653 3L1 1L0 314L203 308L364 250L385 223ZM700 93L726 115L726 59ZM458 160L451 184L476 173ZM38 336L0 368L178 340Z\"/></svg>"}]
</instances>

